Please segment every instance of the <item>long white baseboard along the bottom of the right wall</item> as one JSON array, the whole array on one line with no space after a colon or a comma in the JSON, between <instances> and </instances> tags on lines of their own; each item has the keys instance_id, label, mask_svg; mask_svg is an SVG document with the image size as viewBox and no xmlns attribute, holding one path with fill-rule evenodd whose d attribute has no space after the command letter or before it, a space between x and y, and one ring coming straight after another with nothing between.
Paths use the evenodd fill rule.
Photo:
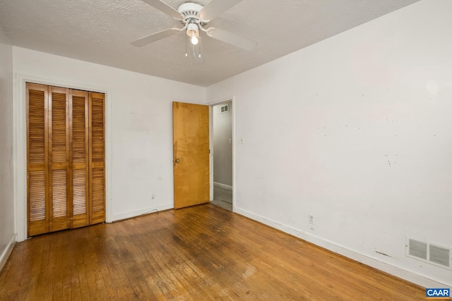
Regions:
<instances>
[{"instance_id":1,"label":"long white baseboard along the bottom of the right wall","mask_svg":"<svg viewBox=\"0 0 452 301\"><path fill-rule=\"evenodd\" d=\"M318 245L319 247L325 248L326 250L330 250L332 252L341 254L345 257L356 260L357 262L361 262L362 264L367 264L368 266L374 267L375 269L379 269L380 271L384 271L384 272L391 274L393 276L396 276L398 278L402 278L406 281L410 281L411 283L421 285L424 288L446 288L446 287L451 286L451 284L440 283L439 281L434 281L430 278L427 278L426 276L422 276L419 274L415 274L411 271L407 271L407 270L403 269L402 267L393 266L391 264L387 264L386 262L381 262L379 259L369 257L365 254L361 254L354 250L350 250L347 247L336 244L335 242L331 242L331 241L325 240L323 238L319 238L310 233L305 233L303 231L299 231L295 228L286 226L282 223L278 223L277 221L267 219L266 217L251 213L244 209L234 207L234 212L237 214L246 216L249 219L254 219L255 221L263 223L272 228L276 228L285 233L289 233L290 235L294 235L295 237L301 238L302 240L311 242L314 245Z\"/></svg>"}]
</instances>

